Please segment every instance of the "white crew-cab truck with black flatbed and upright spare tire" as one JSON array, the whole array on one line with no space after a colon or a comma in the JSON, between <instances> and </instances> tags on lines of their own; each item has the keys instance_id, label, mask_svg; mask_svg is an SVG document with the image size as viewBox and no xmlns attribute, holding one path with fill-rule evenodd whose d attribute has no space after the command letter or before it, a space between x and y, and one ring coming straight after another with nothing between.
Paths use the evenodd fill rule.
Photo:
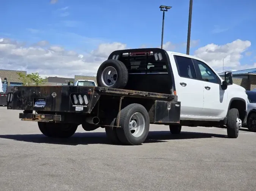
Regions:
<instances>
[{"instance_id":1,"label":"white crew-cab truck with black flatbed and upright spare tire","mask_svg":"<svg viewBox=\"0 0 256 191\"><path fill-rule=\"evenodd\" d=\"M82 124L86 131L105 128L113 143L140 145L149 124L226 128L237 138L246 120L247 94L224 80L204 60L159 48L112 52L97 71L97 86L13 87L8 109L38 122L48 137L70 137ZM47 91L46 91L47 90ZM36 113L33 113L35 111Z\"/></svg>"}]
</instances>

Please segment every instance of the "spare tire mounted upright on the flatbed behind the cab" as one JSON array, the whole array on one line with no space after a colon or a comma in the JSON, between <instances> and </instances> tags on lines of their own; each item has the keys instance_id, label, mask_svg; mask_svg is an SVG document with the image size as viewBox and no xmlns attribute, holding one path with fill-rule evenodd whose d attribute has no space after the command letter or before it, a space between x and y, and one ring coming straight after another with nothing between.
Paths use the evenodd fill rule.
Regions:
<instances>
[{"instance_id":1,"label":"spare tire mounted upright on the flatbed behind the cab","mask_svg":"<svg viewBox=\"0 0 256 191\"><path fill-rule=\"evenodd\" d=\"M104 61L97 71L97 85L106 88L124 88L128 82L128 70L120 60Z\"/></svg>"}]
</instances>

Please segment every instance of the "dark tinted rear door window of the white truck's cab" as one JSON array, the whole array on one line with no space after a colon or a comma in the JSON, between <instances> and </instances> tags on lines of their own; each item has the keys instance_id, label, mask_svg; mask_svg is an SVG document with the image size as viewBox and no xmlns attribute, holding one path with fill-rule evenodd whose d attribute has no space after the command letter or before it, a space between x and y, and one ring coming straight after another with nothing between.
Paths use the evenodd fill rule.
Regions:
<instances>
[{"instance_id":1,"label":"dark tinted rear door window of the white truck's cab","mask_svg":"<svg viewBox=\"0 0 256 191\"><path fill-rule=\"evenodd\" d=\"M196 71L192 59L183 56L174 56L180 77L196 79Z\"/></svg>"}]
</instances>

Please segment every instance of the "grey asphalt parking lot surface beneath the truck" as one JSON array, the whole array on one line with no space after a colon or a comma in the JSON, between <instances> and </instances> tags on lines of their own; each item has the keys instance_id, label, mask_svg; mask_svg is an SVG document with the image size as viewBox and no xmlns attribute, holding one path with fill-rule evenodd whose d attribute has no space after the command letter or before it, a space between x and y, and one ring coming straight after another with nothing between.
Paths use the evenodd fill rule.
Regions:
<instances>
[{"instance_id":1,"label":"grey asphalt parking lot surface beneath the truck","mask_svg":"<svg viewBox=\"0 0 256 191\"><path fill-rule=\"evenodd\" d=\"M140 146L110 145L104 129L79 126L68 140L0 107L0 188L9 190L256 190L256 133L151 125Z\"/></svg>"}]
</instances>

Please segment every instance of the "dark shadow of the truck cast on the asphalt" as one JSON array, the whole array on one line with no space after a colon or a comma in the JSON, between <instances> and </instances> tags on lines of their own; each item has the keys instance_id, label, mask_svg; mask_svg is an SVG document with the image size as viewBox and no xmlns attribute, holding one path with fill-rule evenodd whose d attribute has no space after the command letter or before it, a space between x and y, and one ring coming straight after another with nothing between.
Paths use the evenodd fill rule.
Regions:
<instances>
[{"instance_id":1,"label":"dark shadow of the truck cast on the asphalt","mask_svg":"<svg viewBox=\"0 0 256 191\"><path fill-rule=\"evenodd\" d=\"M226 138L221 134L212 134L205 132L181 132L178 135L172 135L170 131L150 131L145 143L168 142L170 140L182 139L203 139L203 138ZM13 139L17 141L31 143L49 143L58 145L90 145L105 144L112 145L106 137L105 132L77 132L69 139L55 139L45 137L42 134L20 134L20 135L0 135L2 139Z\"/></svg>"}]
</instances>

